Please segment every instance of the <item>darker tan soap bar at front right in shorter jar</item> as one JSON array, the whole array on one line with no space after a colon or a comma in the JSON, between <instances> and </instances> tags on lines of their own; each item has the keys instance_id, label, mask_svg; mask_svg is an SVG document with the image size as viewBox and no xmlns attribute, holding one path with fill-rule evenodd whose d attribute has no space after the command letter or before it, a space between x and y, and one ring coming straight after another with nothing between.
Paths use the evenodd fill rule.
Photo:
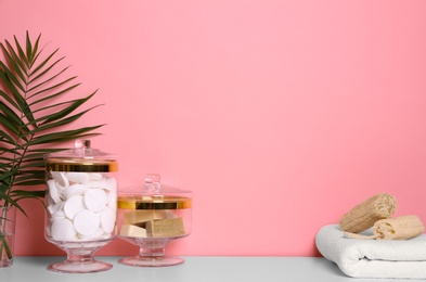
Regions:
<instances>
[{"instance_id":1,"label":"darker tan soap bar at front right in shorter jar","mask_svg":"<svg viewBox=\"0 0 426 282\"><path fill-rule=\"evenodd\" d=\"M151 238L172 238L185 234L181 217L151 220L146 222L146 234Z\"/></svg>"}]
</instances>

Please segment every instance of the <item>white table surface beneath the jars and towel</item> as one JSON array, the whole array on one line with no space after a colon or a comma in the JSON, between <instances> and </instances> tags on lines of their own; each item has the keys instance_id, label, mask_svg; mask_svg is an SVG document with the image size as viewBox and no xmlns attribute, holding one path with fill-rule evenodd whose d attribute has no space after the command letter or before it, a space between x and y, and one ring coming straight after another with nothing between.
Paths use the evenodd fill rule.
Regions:
<instances>
[{"instance_id":1,"label":"white table surface beneath the jars and towel","mask_svg":"<svg viewBox=\"0 0 426 282\"><path fill-rule=\"evenodd\" d=\"M232 257L197 256L183 257L185 262L172 267L141 268L118 264L121 257L95 256L109 262L113 268L94 273L56 273L47 270L50 264L65 259L61 256L14 258L13 266L0 268L1 282L61 281L61 282L269 282L269 281L426 281L395 279L353 279L345 275L338 267L320 257ZM60 280L59 280L60 279Z\"/></svg>"}]
</instances>

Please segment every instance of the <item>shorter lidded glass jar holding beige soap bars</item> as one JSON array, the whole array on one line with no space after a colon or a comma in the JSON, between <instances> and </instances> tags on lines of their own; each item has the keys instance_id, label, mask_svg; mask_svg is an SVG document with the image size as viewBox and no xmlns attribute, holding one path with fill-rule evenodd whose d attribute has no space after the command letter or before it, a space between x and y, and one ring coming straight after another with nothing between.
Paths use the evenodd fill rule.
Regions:
<instances>
[{"instance_id":1,"label":"shorter lidded glass jar holding beige soap bars","mask_svg":"<svg viewBox=\"0 0 426 282\"><path fill-rule=\"evenodd\" d=\"M165 255L168 243L188 236L192 229L192 193L164 185L158 175L147 175L142 188L118 194L118 238L139 246L137 256L119 264L138 267L179 265L180 257Z\"/></svg>"}]
</instances>

